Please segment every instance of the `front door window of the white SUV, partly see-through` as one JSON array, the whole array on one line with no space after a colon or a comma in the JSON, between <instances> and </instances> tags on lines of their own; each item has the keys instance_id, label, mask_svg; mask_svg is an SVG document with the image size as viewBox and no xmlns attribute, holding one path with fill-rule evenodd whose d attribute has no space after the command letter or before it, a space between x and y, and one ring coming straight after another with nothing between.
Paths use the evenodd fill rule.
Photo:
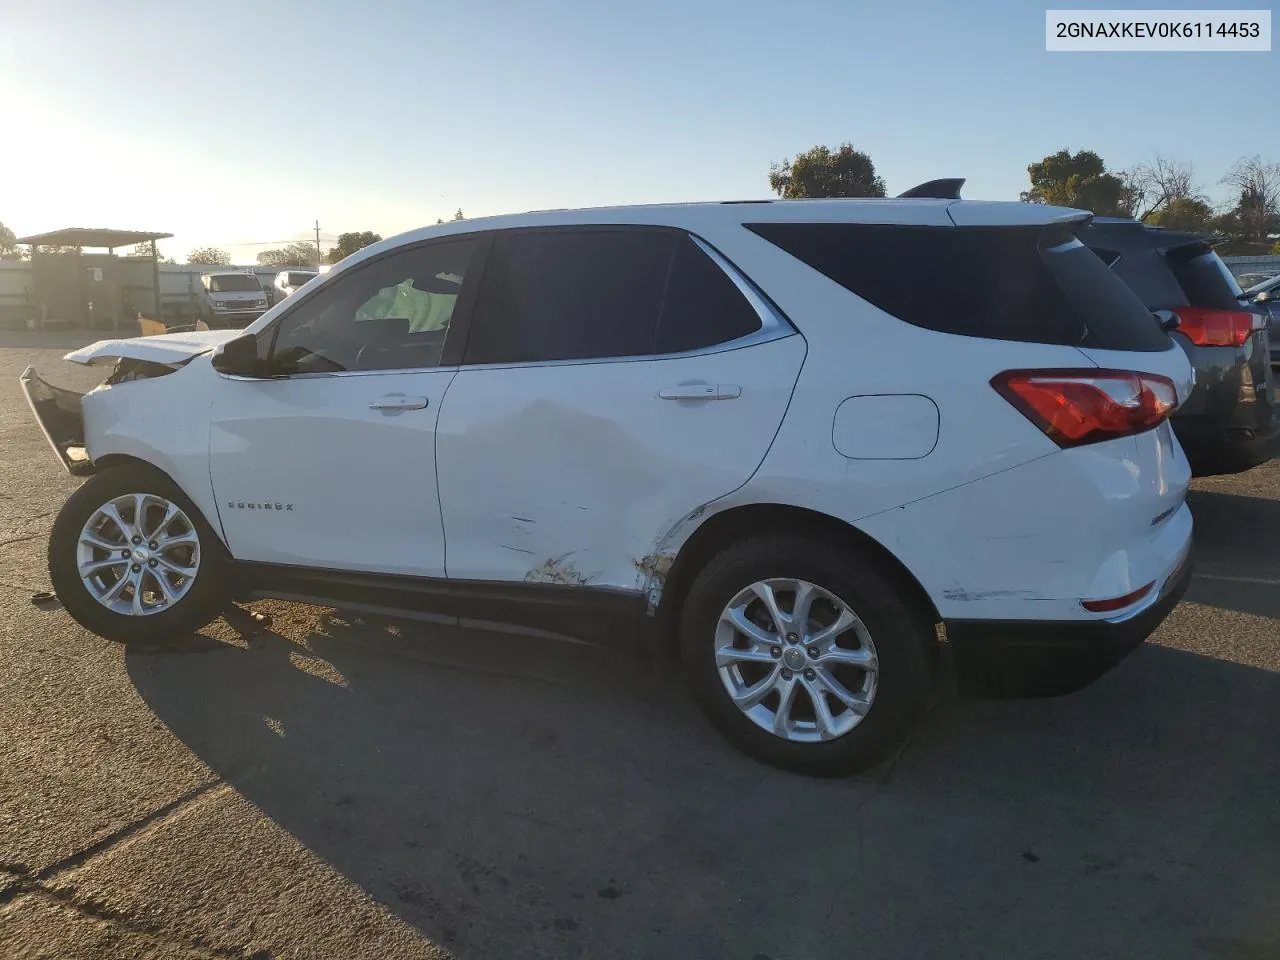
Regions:
<instances>
[{"instance_id":1,"label":"front door window of the white SUV, partly see-through","mask_svg":"<svg viewBox=\"0 0 1280 960\"><path fill-rule=\"evenodd\" d=\"M305 297L269 332L271 372L439 366L479 243L392 253Z\"/></svg>"}]
</instances>

